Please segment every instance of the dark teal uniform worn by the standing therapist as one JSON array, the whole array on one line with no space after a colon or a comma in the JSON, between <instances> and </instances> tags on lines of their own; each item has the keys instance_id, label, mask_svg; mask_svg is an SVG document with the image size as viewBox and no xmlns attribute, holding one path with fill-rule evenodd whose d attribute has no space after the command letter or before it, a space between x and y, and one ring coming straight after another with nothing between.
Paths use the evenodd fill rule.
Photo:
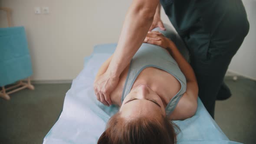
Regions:
<instances>
[{"instance_id":1,"label":"dark teal uniform worn by the standing therapist","mask_svg":"<svg viewBox=\"0 0 256 144\"><path fill-rule=\"evenodd\" d=\"M249 22L241 0L160 0L165 13L190 51L199 97L214 118L223 78Z\"/></svg>"}]
</instances>

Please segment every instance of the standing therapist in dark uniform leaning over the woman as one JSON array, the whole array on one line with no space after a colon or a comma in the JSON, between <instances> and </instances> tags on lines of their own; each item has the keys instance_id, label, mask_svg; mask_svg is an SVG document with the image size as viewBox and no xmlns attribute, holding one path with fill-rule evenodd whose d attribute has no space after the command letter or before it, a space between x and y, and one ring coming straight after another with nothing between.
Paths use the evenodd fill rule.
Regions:
<instances>
[{"instance_id":1,"label":"standing therapist in dark uniform leaning over the woman","mask_svg":"<svg viewBox=\"0 0 256 144\"><path fill-rule=\"evenodd\" d=\"M223 78L249 31L241 0L133 0L112 61L106 72L94 82L95 94L103 104L112 105L109 94L148 31L154 27L165 29L160 19L161 5L190 52L199 97L214 118L215 100L231 95ZM147 39L147 43L154 41L151 37Z\"/></svg>"}]
</instances>

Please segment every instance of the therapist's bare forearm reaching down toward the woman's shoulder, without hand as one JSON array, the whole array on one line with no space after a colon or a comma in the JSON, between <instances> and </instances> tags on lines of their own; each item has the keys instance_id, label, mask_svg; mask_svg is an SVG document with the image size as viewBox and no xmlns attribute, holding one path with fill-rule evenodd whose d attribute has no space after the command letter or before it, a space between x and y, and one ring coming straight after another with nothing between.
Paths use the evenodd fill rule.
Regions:
<instances>
[{"instance_id":1,"label":"therapist's bare forearm reaching down toward the woman's shoulder, without hand","mask_svg":"<svg viewBox=\"0 0 256 144\"><path fill-rule=\"evenodd\" d=\"M119 77L144 41L148 33L159 0L133 0L125 16L117 48L107 71L112 77Z\"/></svg>"}]
</instances>

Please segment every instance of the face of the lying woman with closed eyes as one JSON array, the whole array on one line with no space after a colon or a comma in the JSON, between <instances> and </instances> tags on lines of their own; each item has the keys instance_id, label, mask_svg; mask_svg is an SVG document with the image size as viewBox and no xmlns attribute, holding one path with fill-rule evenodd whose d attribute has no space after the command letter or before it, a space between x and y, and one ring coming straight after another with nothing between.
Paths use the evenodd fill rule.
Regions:
<instances>
[{"instance_id":1,"label":"face of the lying woman with closed eyes","mask_svg":"<svg viewBox=\"0 0 256 144\"><path fill-rule=\"evenodd\" d=\"M138 85L125 97L121 108L121 117L124 118L160 118L165 116L164 104L148 85Z\"/></svg>"}]
</instances>

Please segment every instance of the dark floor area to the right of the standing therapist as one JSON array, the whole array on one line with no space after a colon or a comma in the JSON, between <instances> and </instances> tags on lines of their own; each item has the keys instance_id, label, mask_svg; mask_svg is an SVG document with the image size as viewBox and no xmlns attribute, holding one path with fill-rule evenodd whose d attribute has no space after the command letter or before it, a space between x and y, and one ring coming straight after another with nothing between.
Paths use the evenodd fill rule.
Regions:
<instances>
[{"instance_id":1,"label":"dark floor area to the right of the standing therapist","mask_svg":"<svg viewBox=\"0 0 256 144\"><path fill-rule=\"evenodd\" d=\"M256 81L225 79L233 96L217 101L215 121L232 141L256 144Z\"/></svg>"}]
</instances>

